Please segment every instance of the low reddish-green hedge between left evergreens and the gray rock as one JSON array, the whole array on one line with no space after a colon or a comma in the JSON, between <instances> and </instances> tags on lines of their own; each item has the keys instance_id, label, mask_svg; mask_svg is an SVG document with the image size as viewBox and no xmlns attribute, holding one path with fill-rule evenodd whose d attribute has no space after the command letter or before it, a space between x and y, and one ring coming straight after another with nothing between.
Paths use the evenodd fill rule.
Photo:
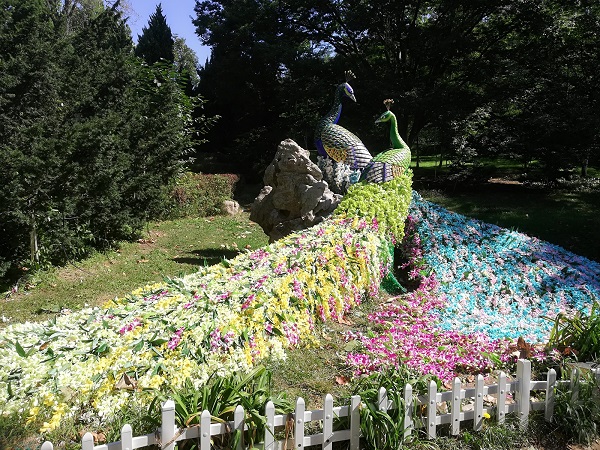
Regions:
<instances>
[{"instance_id":1,"label":"low reddish-green hedge between left evergreens and the gray rock","mask_svg":"<svg viewBox=\"0 0 600 450\"><path fill-rule=\"evenodd\" d=\"M224 200L233 196L238 177L186 172L169 185L165 216L205 217L221 212Z\"/></svg>"}]
</instances>

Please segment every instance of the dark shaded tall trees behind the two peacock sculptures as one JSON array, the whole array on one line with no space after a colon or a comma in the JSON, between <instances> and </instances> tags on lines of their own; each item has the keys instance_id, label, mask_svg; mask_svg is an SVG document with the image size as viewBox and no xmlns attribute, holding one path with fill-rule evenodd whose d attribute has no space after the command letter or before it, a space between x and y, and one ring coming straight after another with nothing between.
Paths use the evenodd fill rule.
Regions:
<instances>
[{"instance_id":1,"label":"dark shaded tall trees behind the two peacock sculptures","mask_svg":"<svg viewBox=\"0 0 600 450\"><path fill-rule=\"evenodd\" d=\"M196 13L212 48L200 88L228 118L210 148L232 163L277 138L308 148L348 67L360 106L341 121L373 155L388 144L370 119L387 97L413 153L426 136L458 183L490 156L541 161L553 176L600 161L597 2L197 0Z\"/></svg>"}]
</instances>

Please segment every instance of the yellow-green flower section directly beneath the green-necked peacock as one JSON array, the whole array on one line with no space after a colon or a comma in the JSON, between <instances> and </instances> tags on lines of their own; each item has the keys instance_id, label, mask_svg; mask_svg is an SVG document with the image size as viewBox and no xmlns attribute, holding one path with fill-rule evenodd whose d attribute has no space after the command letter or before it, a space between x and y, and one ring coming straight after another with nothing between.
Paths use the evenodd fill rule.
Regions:
<instances>
[{"instance_id":1,"label":"yellow-green flower section directly beneath the green-necked peacock","mask_svg":"<svg viewBox=\"0 0 600 450\"><path fill-rule=\"evenodd\" d=\"M412 171L385 183L352 185L335 210L338 216L377 220L381 232L396 242L404 237L404 222L412 198Z\"/></svg>"}]
</instances>

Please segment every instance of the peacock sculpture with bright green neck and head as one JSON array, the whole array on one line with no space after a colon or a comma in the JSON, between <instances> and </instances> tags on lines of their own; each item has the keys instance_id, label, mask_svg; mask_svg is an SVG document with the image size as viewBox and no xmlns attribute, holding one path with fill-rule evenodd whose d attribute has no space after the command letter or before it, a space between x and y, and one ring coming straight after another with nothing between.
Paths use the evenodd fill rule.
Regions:
<instances>
[{"instance_id":1,"label":"peacock sculpture with bright green neck and head","mask_svg":"<svg viewBox=\"0 0 600 450\"><path fill-rule=\"evenodd\" d=\"M390 123L390 141L392 148L375 156L369 164L363 169L360 179L369 183L385 183L400 174L404 173L410 166L410 148L402 140L398 133L398 123L396 116L390 108L394 100L386 99L383 104L386 107L384 112L375 123Z\"/></svg>"}]
</instances>

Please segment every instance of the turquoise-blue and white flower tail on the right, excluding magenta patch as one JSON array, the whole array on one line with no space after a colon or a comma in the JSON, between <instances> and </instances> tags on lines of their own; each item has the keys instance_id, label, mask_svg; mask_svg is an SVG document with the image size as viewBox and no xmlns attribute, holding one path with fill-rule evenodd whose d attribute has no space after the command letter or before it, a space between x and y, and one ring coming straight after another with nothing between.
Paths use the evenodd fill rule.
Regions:
<instances>
[{"instance_id":1,"label":"turquoise-blue and white flower tail on the right, excluding magenta patch","mask_svg":"<svg viewBox=\"0 0 600 450\"><path fill-rule=\"evenodd\" d=\"M600 264L517 231L469 219L413 196L424 262L448 299L440 327L491 339L545 342L559 312L600 299Z\"/></svg>"}]
</instances>

